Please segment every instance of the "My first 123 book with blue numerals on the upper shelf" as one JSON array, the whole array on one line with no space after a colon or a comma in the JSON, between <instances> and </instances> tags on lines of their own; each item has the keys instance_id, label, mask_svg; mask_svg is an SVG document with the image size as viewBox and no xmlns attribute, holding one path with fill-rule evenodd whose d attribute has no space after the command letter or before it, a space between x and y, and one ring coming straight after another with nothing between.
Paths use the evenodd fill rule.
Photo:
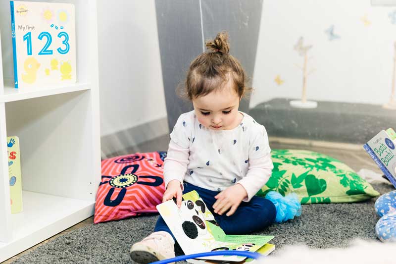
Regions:
<instances>
[{"instance_id":1,"label":"My first 123 book with blue numerals on the upper shelf","mask_svg":"<svg viewBox=\"0 0 396 264\"><path fill-rule=\"evenodd\" d=\"M10 8L15 88L75 83L74 5L10 1Z\"/></svg>"}]
</instances>

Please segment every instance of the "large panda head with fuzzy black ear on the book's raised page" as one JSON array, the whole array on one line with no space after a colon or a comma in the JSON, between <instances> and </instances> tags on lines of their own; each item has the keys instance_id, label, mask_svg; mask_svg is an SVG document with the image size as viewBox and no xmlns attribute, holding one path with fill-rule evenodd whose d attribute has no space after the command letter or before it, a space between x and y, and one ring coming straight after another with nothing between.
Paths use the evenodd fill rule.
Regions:
<instances>
[{"instance_id":1,"label":"large panda head with fuzzy black ear on the book's raised page","mask_svg":"<svg viewBox=\"0 0 396 264\"><path fill-rule=\"evenodd\" d=\"M173 198L176 204L176 199ZM182 198L182 204L179 210L179 216L183 219L182 229L187 237L196 239L207 233L205 220L218 226L214 216L208 212L205 203L201 199L195 203L192 200Z\"/></svg>"}]
</instances>

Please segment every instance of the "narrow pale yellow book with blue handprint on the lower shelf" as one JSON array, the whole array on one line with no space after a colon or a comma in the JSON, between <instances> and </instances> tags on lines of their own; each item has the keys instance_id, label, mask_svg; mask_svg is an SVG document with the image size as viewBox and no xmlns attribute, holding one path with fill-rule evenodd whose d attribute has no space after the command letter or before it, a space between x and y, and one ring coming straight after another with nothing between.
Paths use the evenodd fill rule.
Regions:
<instances>
[{"instance_id":1,"label":"narrow pale yellow book with blue handprint on the lower shelf","mask_svg":"<svg viewBox=\"0 0 396 264\"><path fill-rule=\"evenodd\" d=\"M22 211L21 156L18 137L7 137L7 154L11 213L18 213Z\"/></svg>"}]
</instances>

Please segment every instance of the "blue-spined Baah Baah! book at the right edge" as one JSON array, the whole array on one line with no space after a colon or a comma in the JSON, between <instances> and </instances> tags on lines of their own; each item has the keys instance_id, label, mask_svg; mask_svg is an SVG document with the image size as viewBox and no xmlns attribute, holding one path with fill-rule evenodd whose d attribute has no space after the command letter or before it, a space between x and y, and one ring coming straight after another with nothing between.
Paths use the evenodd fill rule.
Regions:
<instances>
[{"instance_id":1,"label":"blue-spined Baah Baah! book at the right edge","mask_svg":"<svg viewBox=\"0 0 396 264\"><path fill-rule=\"evenodd\" d=\"M396 146L388 133L382 130L363 148L396 188Z\"/></svg>"}]
</instances>

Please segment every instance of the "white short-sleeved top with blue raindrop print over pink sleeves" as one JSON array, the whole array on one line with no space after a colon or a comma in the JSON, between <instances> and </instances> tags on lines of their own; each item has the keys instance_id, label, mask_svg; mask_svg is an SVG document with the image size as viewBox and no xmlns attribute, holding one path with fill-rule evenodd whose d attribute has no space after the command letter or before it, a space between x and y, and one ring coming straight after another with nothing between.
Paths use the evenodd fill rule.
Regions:
<instances>
[{"instance_id":1,"label":"white short-sleeved top with blue raindrop print over pink sleeves","mask_svg":"<svg viewBox=\"0 0 396 264\"><path fill-rule=\"evenodd\" d=\"M192 166L190 167L191 169L188 170L187 172L187 175L191 176L190 179L192 181L194 181L193 179L197 178L197 176L200 176L201 174L206 176L207 178L205 179L204 185L210 186L210 189L212 190L217 190L217 189L219 189L219 191L224 190L225 187L222 186L223 183L224 186L231 186L236 184L236 182L241 178L241 175L243 175L247 171L248 163L249 163L249 155L252 154L252 152L255 152L255 154L257 155L261 150L265 149L266 146L262 145L261 144L262 142L258 140L258 138L260 138L259 135L261 133L265 134L265 130L260 129L256 125L252 125L253 123L256 124L257 122L255 122L252 118L249 118L243 120L243 122L240 122L239 124L240 128L235 129L234 132L232 133L225 134L226 132L222 132L212 135L211 133L209 133L211 132L210 129L203 126L203 124L201 124L198 121L197 117L195 117L194 119L192 119L192 117L193 115L191 114L188 117L183 116L182 118L180 118L181 122L179 121L177 126L178 131L174 133L175 141L178 139L182 139L182 137L184 137L184 141L182 141L182 143L186 145L185 139L188 138L189 141L187 142L187 146L190 145L190 148L194 148L193 153L195 155L200 153L201 156L198 157L198 159L195 161L195 164L192 164ZM197 127L197 123L199 128ZM183 129L180 128L180 125L183 126ZM198 145L193 144L195 143L195 137L197 135L199 135L197 141ZM254 139L254 141L253 142L249 141L250 138ZM180 140L178 141L180 142ZM208 143L209 145L211 145L210 149L200 147L201 144L208 145ZM237 143L238 146L235 146ZM254 146L253 144L256 146ZM216 147L218 152L217 155L219 156L213 155L216 153ZM205 152L202 152L203 150L205 150ZM236 151L238 151L238 155ZM241 152L242 155L239 155L239 152ZM220 167L222 166L222 162L219 162L219 160L221 161L222 158L227 158L228 156L230 156L231 158L229 160L230 167L232 168L235 167L236 170L234 173L231 172L231 175L229 175L230 174L229 172L223 171L224 176L221 176L221 173L219 172L219 168L217 167L217 166ZM243 157L247 157L247 159ZM206 167L203 164L206 164ZM211 175L215 175L215 174L217 174L218 176L214 179L210 179Z\"/></svg>"}]
</instances>

